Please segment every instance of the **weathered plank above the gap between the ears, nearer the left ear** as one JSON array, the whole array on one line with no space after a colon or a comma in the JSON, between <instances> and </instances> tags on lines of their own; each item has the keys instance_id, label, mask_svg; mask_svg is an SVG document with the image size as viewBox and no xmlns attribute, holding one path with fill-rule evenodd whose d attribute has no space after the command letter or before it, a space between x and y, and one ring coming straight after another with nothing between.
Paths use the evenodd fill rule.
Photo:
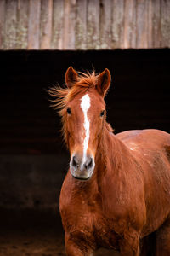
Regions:
<instances>
[{"instance_id":1,"label":"weathered plank above the gap between the ears, nearer the left ear","mask_svg":"<svg viewBox=\"0 0 170 256\"><path fill-rule=\"evenodd\" d=\"M76 49L87 49L87 0L77 0Z\"/></svg>"}]
</instances>

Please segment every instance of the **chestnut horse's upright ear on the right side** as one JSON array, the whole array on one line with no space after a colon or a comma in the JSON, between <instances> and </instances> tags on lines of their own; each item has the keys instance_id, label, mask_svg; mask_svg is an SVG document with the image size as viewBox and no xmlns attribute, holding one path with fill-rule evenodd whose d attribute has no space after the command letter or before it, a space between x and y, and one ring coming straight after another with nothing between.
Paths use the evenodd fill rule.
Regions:
<instances>
[{"instance_id":1,"label":"chestnut horse's upright ear on the right side","mask_svg":"<svg viewBox=\"0 0 170 256\"><path fill-rule=\"evenodd\" d=\"M105 68L105 70L99 74L98 84L96 89L99 91L101 96L105 96L107 90L109 89L111 84L111 73L109 69Z\"/></svg>"}]
</instances>

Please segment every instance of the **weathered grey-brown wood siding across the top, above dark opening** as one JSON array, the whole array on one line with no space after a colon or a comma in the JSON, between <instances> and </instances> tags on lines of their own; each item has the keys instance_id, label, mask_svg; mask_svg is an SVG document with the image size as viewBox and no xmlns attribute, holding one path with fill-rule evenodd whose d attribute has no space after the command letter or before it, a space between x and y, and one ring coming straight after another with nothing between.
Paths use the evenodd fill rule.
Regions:
<instances>
[{"instance_id":1,"label":"weathered grey-brown wood siding across the top, above dark opening","mask_svg":"<svg viewBox=\"0 0 170 256\"><path fill-rule=\"evenodd\" d=\"M0 49L165 47L169 0L0 1Z\"/></svg>"}]
</instances>

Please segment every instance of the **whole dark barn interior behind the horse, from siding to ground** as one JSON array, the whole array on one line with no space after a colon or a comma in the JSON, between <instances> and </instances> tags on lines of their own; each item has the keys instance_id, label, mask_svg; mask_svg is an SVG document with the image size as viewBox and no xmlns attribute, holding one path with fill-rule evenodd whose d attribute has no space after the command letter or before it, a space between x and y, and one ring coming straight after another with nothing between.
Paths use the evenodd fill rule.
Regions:
<instances>
[{"instance_id":1,"label":"whole dark barn interior behind the horse, from siding to ground","mask_svg":"<svg viewBox=\"0 0 170 256\"><path fill-rule=\"evenodd\" d=\"M2 224L55 223L69 154L47 90L65 83L73 66L105 67L105 97L115 132L156 128L170 132L170 50L0 52L0 220ZM51 215L50 215L51 214ZM53 218L47 218L47 216ZM52 221L53 220L53 221ZM60 223L60 220L58 224Z\"/></svg>"}]
</instances>

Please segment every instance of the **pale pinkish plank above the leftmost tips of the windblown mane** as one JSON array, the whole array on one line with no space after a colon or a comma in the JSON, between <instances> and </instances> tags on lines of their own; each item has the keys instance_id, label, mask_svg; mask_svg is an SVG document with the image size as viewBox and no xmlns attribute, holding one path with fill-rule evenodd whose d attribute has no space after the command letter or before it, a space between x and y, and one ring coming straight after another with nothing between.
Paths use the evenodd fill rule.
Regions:
<instances>
[{"instance_id":1,"label":"pale pinkish plank above the leftmost tips of the windblown mane","mask_svg":"<svg viewBox=\"0 0 170 256\"><path fill-rule=\"evenodd\" d=\"M41 38L40 48L49 49L52 34L53 0L42 0L41 3Z\"/></svg>"}]
</instances>

